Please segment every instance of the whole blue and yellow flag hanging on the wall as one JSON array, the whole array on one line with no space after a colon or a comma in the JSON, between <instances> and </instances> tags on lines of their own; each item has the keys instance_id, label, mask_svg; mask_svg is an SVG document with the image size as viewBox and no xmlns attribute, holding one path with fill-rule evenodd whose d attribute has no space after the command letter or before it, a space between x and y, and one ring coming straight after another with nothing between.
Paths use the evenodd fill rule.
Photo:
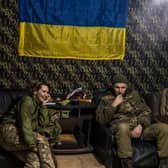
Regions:
<instances>
[{"instance_id":1,"label":"whole blue and yellow flag hanging on the wall","mask_svg":"<svg viewBox=\"0 0 168 168\"><path fill-rule=\"evenodd\" d=\"M19 0L19 55L123 60L128 0Z\"/></svg>"}]
</instances>

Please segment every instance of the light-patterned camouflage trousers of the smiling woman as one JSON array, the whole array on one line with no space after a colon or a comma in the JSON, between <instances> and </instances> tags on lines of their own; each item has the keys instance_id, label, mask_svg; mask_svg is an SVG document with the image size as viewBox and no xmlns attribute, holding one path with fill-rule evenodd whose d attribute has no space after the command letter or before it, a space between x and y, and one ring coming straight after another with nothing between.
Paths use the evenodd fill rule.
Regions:
<instances>
[{"instance_id":1,"label":"light-patterned camouflage trousers of the smiling woman","mask_svg":"<svg viewBox=\"0 0 168 168\"><path fill-rule=\"evenodd\" d=\"M0 137L0 146L25 162L24 168L57 167L48 139L41 134L34 132L37 141L36 150L28 149L19 136L17 128L12 124L0 127Z\"/></svg>"}]
</instances>

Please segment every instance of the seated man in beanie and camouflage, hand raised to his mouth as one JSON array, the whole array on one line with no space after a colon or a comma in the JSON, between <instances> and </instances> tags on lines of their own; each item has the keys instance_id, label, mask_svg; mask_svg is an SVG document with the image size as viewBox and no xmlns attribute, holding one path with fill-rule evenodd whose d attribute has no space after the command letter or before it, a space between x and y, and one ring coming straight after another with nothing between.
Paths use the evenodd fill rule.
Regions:
<instances>
[{"instance_id":1,"label":"seated man in beanie and camouflage, hand raised to his mouth","mask_svg":"<svg viewBox=\"0 0 168 168\"><path fill-rule=\"evenodd\" d=\"M167 167L168 125L161 122L151 124L151 110L138 92L130 88L125 76L114 76L112 92L101 98L96 120L101 124L110 124L114 130L122 168L133 167L131 139L140 137L157 139L159 168Z\"/></svg>"}]
</instances>

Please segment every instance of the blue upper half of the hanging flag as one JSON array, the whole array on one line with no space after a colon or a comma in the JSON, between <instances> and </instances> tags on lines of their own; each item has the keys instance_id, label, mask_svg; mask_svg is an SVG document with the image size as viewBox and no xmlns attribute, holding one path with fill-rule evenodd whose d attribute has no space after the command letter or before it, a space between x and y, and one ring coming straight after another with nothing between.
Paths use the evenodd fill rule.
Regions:
<instances>
[{"instance_id":1,"label":"blue upper half of the hanging flag","mask_svg":"<svg viewBox=\"0 0 168 168\"><path fill-rule=\"evenodd\" d=\"M128 0L20 0L20 22L125 27Z\"/></svg>"}]
</instances>

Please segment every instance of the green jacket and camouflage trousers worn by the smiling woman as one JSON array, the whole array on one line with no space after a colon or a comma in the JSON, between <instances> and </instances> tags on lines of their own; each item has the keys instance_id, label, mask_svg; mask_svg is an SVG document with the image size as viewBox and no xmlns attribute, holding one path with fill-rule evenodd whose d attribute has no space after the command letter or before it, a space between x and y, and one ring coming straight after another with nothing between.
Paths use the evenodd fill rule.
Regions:
<instances>
[{"instance_id":1,"label":"green jacket and camouflage trousers worn by the smiling woman","mask_svg":"<svg viewBox=\"0 0 168 168\"><path fill-rule=\"evenodd\" d=\"M34 97L23 97L3 118L0 145L24 161L25 168L56 168L45 136L49 123L46 106Z\"/></svg>"}]
</instances>

